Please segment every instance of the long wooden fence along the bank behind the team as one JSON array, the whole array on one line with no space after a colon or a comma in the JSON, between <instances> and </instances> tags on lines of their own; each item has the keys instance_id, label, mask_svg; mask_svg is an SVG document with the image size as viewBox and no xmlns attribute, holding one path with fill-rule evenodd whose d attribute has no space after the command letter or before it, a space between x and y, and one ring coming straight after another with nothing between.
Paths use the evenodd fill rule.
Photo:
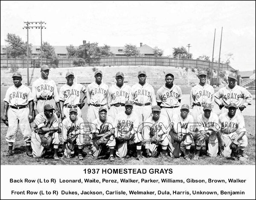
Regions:
<instances>
[{"instance_id":1,"label":"long wooden fence along the bank behind the team","mask_svg":"<svg viewBox=\"0 0 256 200\"><path fill-rule=\"evenodd\" d=\"M59 59L53 62L51 59L43 59L43 64L55 65L54 67L74 67L74 59ZM40 67L40 60L29 59L29 67ZM115 65L160 65L172 67L189 67L208 69L211 67L211 62L191 60L191 59L177 59L167 57L106 57L106 58L90 58L90 66L115 66ZM26 59L6 59L1 58L0 67L27 67ZM218 63L213 63L213 69L218 70ZM227 64L220 64L220 70L229 70L236 72L236 70Z\"/></svg>"}]
</instances>

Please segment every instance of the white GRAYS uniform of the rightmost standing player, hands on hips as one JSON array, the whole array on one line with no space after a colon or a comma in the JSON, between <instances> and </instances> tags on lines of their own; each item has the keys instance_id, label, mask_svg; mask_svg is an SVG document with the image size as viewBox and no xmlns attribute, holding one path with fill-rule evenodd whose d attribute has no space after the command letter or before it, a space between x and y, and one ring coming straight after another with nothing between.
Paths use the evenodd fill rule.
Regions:
<instances>
[{"instance_id":1,"label":"white GRAYS uniform of the rightmost standing player, hands on hips","mask_svg":"<svg viewBox=\"0 0 256 200\"><path fill-rule=\"evenodd\" d=\"M221 113L226 113L228 111L227 106L230 103L235 103L237 107L244 105L252 104L253 96L248 92L244 87L236 85L233 89L230 89L228 85L222 87L218 92L215 93L215 102L220 105L224 104L224 107L221 109ZM240 110L236 112L241 113Z\"/></svg>"}]
</instances>

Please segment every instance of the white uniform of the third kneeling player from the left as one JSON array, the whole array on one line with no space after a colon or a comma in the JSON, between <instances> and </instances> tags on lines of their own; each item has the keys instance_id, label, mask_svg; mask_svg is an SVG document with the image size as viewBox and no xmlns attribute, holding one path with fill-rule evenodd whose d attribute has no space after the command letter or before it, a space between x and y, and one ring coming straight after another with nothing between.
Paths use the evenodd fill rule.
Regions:
<instances>
[{"instance_id":1,"label":"white uniform of the third kneeling player from the left","mask_svg":"<svg viewBox=\"0 0 256 200\"><path fill-rule=\"evenodd\" d=\"M93 125L92 125L92 134L93 133L107 133L108 131L110 131L111 129L115 128L114 127L114 120L111 116L107 116L106 121L103 123L102 121L100 121L99 118L95 119L93 121ZM98 146L96 144L96 137L93 136L92 137L92 154L94 157L98 157L100 152L102 151L102 146ZM114 137L114 135L110 136L108 139L108 143L106 144L106 146L108 146L109 148L114 148L116 146L116 139Z\"/></svg>"}]
</instances>

